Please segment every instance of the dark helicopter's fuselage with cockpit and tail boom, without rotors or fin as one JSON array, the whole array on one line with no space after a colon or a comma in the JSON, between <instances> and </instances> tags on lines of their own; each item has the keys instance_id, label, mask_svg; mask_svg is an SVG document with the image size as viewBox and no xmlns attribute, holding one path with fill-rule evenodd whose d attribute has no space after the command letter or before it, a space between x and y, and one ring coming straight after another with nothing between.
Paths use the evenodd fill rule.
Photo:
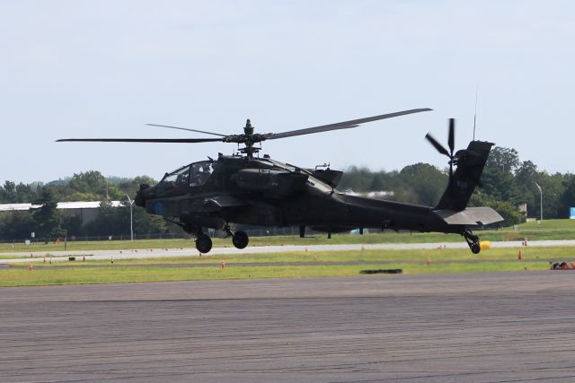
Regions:
<instances>
[{"instance_id":1,"label":"dark helicopter's fuselage with cockpit and tail boom, without rotors or fin","mask_svg":"<svg viewBox=\"0 0 575 383\"><path fill-rule=\"evenodd\" d=\"M143 187L137 203L192 233L201 228L222 230L229 223L307 226L327 232L461 231L431 207L341 193L335 188L341 175L337 170L302 169L270 158L220 155L216 161L195 162L166 174L155 187ZM202 177L200 182L194 180Z\"/></svg>"}]
</instances>

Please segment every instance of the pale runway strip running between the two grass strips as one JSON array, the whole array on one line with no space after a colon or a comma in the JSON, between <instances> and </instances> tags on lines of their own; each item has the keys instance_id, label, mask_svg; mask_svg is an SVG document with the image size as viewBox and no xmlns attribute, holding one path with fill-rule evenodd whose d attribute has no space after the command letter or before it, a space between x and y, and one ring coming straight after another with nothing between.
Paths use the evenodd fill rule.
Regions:
<instances>
[{"instance_id":1,"label":"pale runway strip running between the two grass strips","mask_svg":"<svg viewBox=\"0 0 575 383\"><path fill-rule=\"evenodd\" d=\"M529 241L528 247L556 247L575 246L575 240L537 240ZM285 245L285 246L252 246L238 249L212 248L206 255L226 256L234 254L263 254L263 253L285 253L292 251L349 251L360 250L410 250L410 249L433 249L433 248L468 248L464 240L461 242L441 242L441 243L382 243L371 245L344 244L344 245ZM520 241L491 242L491 248L521 248ZM33 249L32 249L33 250ZM2 253L3 256L13 255L18 259L0 259L0 265L13 264L18 262L30 262L30 254L35 258L54 257L52 260L67 261L67 257L82 257L89 255L89 259L138 259L157 257L190 257L199 256L196 248L147 248L138 250L83 250L83 251L31 251L31 253ZM470 251L471 254L471 251ZM88 257L86 257L88 258Z\"/></svg>"}]
</instances>

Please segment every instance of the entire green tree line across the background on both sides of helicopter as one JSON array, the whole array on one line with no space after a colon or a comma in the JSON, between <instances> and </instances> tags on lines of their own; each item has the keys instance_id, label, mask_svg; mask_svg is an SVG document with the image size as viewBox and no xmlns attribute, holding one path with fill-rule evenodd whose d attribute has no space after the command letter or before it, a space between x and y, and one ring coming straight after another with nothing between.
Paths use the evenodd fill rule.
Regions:
<instances>
[{"instance_id":1,"label":"entire green tree line across the background on both sides of helicopter","mask_svg":"<svg viewBox=\"0 0 575 383\"><path fill-rule=\"evenodd\" d=\"M402 170L373 171L350 167L338 187L341 191L388 191L388 198L417 205L438 204L448 181L448 170L440 170L428 163L416 163ZM154 185L155 179L105 178L95 170L74 174L47 184L23 184L5 181L0 187L0 204L32 203L39 209L0 213L0 239L29 238L31 231L39 238L65 236L129 235L128 197L136 196L142 183ZM521 222L524 217L517 205L527 205L527 217L539 217L540 194L543 189L544 218L567 218L575 205L575 176L571 173L549 174L538 170L532 161L520 161L515 149L494 147L482 174L481 185L473 193L470 205L487 205L505 218L504 225ZM112 208L111 200L126 206ZM80 217L62 213L57 202L102 201L100 213L87 224ZM181 229L162 217L134 208L136 234L181 232Z\"/></svg>"}]
</instances>

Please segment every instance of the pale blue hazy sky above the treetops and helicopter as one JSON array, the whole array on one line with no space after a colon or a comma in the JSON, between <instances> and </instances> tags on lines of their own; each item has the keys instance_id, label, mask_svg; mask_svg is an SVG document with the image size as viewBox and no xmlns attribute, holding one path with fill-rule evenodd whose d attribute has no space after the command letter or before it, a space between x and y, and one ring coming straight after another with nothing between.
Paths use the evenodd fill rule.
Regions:
<instances>
[{"instance_id":1,"label":"pale blue hazy sky above the treetops and helicopter","mask_svg":"<svg viewBox=\"0 0 575 383\"><path fill-rule=\"evenodd\" d=\"M56 143L301 129L430 112L273 140L261 153L314 167L443 169L429 145L476 138L540 170L574 172L571 1L0 0L0 182L87 170L162 178L234 144Z\"/></svg>"}]
</instances>

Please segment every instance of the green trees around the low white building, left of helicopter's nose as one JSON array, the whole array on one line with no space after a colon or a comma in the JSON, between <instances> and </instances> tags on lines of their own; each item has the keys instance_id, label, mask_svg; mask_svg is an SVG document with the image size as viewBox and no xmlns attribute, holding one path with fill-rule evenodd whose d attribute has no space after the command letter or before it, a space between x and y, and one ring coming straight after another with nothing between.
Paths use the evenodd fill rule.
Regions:
<instances>
[{"instance_id":1,"label":"green trees around the low white building, left of helicopter's nose","mask_svg":"<svg viewBox=\"0 0 575 383\"><path fill-rule=\"evenodd\" d=\"M31 203L42 205L30 211L0 213L0 240L31 237L56 239L65 237L108 236L130 234L129 200L136 196L139 185L154 185L155 179L105 178L95 170L58 179L48 184L15 184L5 181L0 187L0 204ZM83 224L78 215L57 209L58 202L101 201L96 218ZM110 201L121 201L125 208L111 207ZM134 232L139 234L179 232L179 228L161 217L148 214L144 209L133 209Z\"/></svg>"}]
</instances>

